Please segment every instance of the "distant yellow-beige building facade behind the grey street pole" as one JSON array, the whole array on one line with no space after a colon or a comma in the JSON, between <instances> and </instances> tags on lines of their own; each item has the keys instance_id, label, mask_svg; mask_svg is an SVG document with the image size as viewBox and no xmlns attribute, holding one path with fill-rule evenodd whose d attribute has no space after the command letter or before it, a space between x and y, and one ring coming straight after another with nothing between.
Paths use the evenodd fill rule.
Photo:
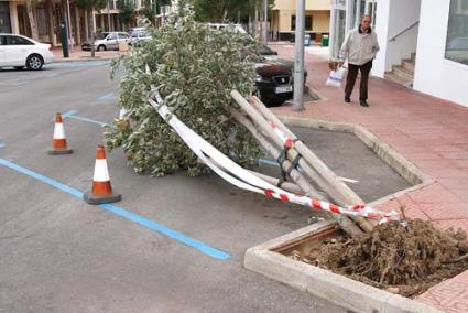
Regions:
<instances>
[{"instance_id":1,"label":"distant yellow-beige building facade behind the grey street pole","mask_svg":"<svg viewBox=\"0 0 468 313\"><path fill-rule=\"evenodd\" d=\"M271 12L270 30L274 40L289 41L295 31L295 0L275 0ZM305 1L305 33L319 41L329 33L330 0Z\"/></svg>"}]
</instances>

